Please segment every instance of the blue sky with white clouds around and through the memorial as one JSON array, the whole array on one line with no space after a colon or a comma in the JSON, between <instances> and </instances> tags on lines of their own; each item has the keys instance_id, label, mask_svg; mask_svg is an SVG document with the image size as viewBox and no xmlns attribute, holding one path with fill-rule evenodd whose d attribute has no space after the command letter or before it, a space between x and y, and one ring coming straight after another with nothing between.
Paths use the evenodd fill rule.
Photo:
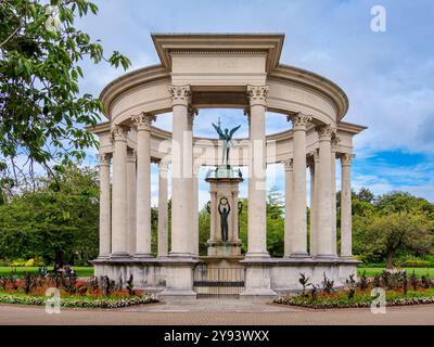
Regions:
<instances>
[{"instance_id":1,"label":"blue sky with white clouds around and through the memorial","mask_svg":"<svg viewBox=\"0 0 434 347\"><path fill-rule=\"evenodd\" d=\"M374 194L410 192L434 203L434 2L430 0L93 0L98 16L77 26L101 39L106 53L118 50L132 62L129 70L159 63L151 33L283 33L280 62L320 74L348 95L345 121L368 127L354 139L353 187ZM385 10L385 31L374 31L374 5ZM98 95L122 75L108 65L84 66L81 92ZM194 136L215 137L210 121L247 123L241 111L204 110ZM267 133L290 127L267 114ZM155 126L171 129L170 114ZM90 153L91 155L94 154ZM90 160L92 162L92 160ZM95 163L94 160L92 163ZM337 170L337 189L340 188ZM157 202L156 167L152 203ZM200 175L200 205L208 200ZM283 169L269 166L268 188L283 189ZM308 184L309 185L309 184ZM246 196L246 184L241 187Z\"/></svg>"}]
</instances>

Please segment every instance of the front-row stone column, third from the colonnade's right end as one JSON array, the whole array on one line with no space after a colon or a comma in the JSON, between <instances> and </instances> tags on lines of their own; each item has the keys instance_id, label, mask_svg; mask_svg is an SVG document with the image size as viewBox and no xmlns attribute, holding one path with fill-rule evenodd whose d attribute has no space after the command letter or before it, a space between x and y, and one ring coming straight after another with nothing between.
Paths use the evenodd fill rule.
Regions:
<instances>
[{"instance_id":1,"label":"front-row stone column, third from the colonnade's right end","mask_svg":"<svg viewBox=\"0 0 434 347\"><path fill-rule=\"evenodd\" d=\"M294 131L294 174L292 204L291 256L307 256L306 236L306 126L310 116L298 113L290 116Z\"/></svg>"}]
</instances>

